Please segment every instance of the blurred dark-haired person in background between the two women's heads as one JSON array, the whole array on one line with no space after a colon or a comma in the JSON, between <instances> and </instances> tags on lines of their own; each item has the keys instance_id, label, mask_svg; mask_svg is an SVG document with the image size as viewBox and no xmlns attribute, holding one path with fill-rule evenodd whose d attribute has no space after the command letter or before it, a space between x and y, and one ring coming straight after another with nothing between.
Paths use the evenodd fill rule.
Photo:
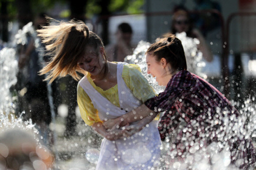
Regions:
<instances>
[{"instance_id":1,"label":"blurred dark-haired person in background between the two women's heads","mask_svg":"<svg viewBox=\"0 0 256 170\"><path fill-rule=\"evenodd\" d=\"M132 27L128 23L119 24L115 34L116 43L106 46L106 53L110 62L123 62L127 55L133 53L132 34Z\"/></svg>"}]
</instances>

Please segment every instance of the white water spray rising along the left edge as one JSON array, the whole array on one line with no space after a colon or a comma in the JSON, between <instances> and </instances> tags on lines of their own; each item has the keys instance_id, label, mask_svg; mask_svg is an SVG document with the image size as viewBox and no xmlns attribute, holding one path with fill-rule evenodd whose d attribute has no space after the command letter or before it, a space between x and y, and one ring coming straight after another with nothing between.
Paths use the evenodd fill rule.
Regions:
<instances>
[{"instance_id":1,"label":"white water spray rising along the left edge","mask_svg":"<svg viewBox=\"0 0 256 170\"><path fill-rule=\"evenodd\" d=\"M0 132L5 131L6 129L15 128L32 130L35 133L35 139L40 143L42 141L38 138L39 132L35 128L35 124L32 124L32 120L29 119L28 121L23 121L21 118L25 112L21 113L19 117L16 117L15 98L12 97L12 94L10 93L11 86L17 83L18 45L27 45L27 33L35 39L35 46L36 48L39 48L39 40L32 27L32 22L30 22L24 26L23 29L18 30L14 40L9 42L7 47L0 51Z\"/></svg>"}]
</instances>

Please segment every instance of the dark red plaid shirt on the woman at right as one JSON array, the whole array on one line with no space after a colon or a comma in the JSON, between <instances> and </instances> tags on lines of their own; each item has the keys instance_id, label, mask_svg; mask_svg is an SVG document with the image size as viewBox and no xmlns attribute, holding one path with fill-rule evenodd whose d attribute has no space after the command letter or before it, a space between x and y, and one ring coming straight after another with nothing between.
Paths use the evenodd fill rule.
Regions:
<instances>
[{"instance_id":1,"label":"dark red plaid shirt on the woman at right","mask_svg":"<svg viewBox=\"0 0 256 170\"><path fill-rule=\"evenodd\" d=\"M180 71L175 74L168 82L165 91L155 98L148 99L145 105L155 112L164 112L158 127L162 140L165 140L166 136L172 135L181 119L186 122L183 130L174 141L175 148L182 153L191 147L184 142L193 141L194 143L197 140L197 142L204 141L205 144L209 145L213 141L222 140L218 139L218 133L232 134L233 132L225 131L223 130L225 128L219 127L224 126L225 117L233 117L232 119L235 120L239 115L238 111L232 107L229 100L219 90L188 71ZM232 138L237 137L233 135ZM236 139L235 143L237 144L237 142L250 143L250 146L242 152L242 157L247 157L247 160L252 158L250 163L254 163L256 161L255 149L251 141ZM234 146L234 143L228 141L227 143ZM233 149L235 148L233 147ZM239 158L232 159L235 162ZM244 164L241 167L245 168L246 166Z\"/></svg>"}]
</instances>

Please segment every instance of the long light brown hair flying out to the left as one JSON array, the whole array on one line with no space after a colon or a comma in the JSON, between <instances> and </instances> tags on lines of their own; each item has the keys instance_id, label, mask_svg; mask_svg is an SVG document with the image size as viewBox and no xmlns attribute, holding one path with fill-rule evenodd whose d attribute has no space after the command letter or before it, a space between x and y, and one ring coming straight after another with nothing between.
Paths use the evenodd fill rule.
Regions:
<instances>
[{"instance_id":1,"label":"long light brown hair flying out to the left","mask_svg":"<svg viewBox=\"0 0 256 170\"><path fill-rule=\"evenodd\" d=\"M84 70L77 66L78 60L85 54L85 47L91 45L98 49L104 48L101 38L89 31L89 28L82 21L71 20L68 22L57 21L47 18L48 22L54 21L55 25L43 26L37 30L42 43L46 44L47 55L52 56L51 61L40 70L40 75L49 73L45 80L53 82L57 77L64 77L67 74L73 79L80 80L77 72L86 74ZM106 61L106 53L104 51ZM104 72L107 72L105 64Z\"/></svg>"}]
</instances>

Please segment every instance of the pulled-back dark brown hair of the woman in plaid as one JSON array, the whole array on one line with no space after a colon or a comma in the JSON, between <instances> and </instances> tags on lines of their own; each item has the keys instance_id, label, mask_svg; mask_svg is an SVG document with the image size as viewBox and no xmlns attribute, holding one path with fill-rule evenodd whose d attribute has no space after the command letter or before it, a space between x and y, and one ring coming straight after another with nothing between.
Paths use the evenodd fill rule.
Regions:
<instances>
[{"instance_id":1,"label":"pulled-back dark brown hair of the woman in plaid","mask_svg":"<svg viewBox=\"0 0 256 170\"><path fill-rule=\"evenodd\" d=\"M156 61L165 58L166 62L171 64L173 70L187 70L182 42L173 34L169 34L164 38L158 38L154 44L149 46L146 54L155 55Z\"/></svg>"}]
</instances>

